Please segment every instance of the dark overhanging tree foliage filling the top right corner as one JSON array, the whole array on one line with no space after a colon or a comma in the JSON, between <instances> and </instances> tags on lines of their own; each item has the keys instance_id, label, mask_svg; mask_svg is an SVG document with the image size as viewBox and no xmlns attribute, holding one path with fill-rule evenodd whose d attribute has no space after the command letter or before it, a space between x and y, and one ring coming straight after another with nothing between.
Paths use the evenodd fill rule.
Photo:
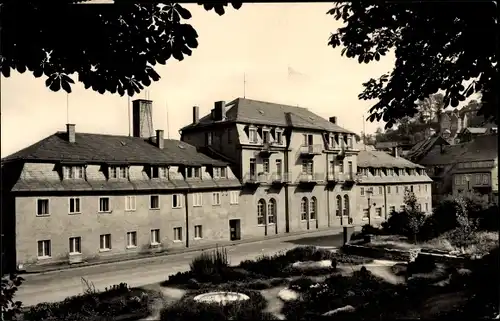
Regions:
<instances>
[{"instance_id":1,"label":"dark overhanging tree foliage filling the top right corner","mask_svg":"<svg viewBox=\"0 0 500 321\"><path fill-rule=\"evenodd\" d=\"M444 107L481 93L479 113L497 122L495 2L353 1L337 3L328 14L344 23L328 43L342 47L342 55L370 63L395 53L391 72L363 84L359 98L377 100L370 121L382 119L391 128L413 117L418 101L442 90Z\"/></svg>"}]
</instances>

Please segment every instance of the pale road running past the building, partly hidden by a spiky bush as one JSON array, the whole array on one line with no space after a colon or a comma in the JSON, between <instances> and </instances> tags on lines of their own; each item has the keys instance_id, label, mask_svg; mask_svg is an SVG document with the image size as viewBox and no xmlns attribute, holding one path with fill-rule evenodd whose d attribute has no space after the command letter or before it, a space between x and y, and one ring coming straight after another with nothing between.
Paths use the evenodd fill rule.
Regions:
<instances>
[{"instance_id":1,"label":"pale road running past the building, partly hidden by a spiky bush","mask_svg":"<svg viewBox=\"0 0 500 321\"><path fill-rule=\"evenodd\" d=\"M298 245L340 246L341 239L342 235L331 235L330 232L330 235L313 238L296 236L240 244L227 247L227 252L230 263L238 265L243 260L289 250ZM96 290L104 290L105 287L121 282L131 287L159 283L171 274L188 270L189 263L199 253L190 252L41 274L26 274L22 275L25 281L19 287L15 299L23 302L24 306L62 301L85 290L82 278L92 282Z\"/></svg>"}]
</instances>

